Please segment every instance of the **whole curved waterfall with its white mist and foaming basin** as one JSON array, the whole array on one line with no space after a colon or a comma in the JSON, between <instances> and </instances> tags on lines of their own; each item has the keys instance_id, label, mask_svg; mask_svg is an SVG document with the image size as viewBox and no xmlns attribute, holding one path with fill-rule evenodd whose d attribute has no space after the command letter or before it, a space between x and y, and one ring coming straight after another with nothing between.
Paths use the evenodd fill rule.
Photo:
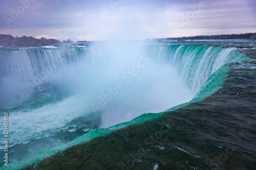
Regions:
<instances>
[{"instance_id":1,"label":"whole curved waterfall with its white mist and foaming basin","mask_svg":"<svg viewBox=\"0 0 256 170\"><path fill-rule=\"evenodd\" d=\"M47 149L31 147L35 140L67 132L79 136L188 102L210 75L244 57L233 48L134 43L0 54L1 105L10 112L10 145L27 145L27 157Z\"/></svg>"}]
</instances>

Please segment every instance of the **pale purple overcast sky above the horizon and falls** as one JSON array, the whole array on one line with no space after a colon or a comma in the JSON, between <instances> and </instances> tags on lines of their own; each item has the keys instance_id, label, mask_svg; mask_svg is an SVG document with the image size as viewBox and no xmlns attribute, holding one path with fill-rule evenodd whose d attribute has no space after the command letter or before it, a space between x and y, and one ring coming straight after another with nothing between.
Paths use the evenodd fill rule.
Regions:
<instances>
[{"instance_id":1,"label":"pale purple overcast sky above the horizon and falls","mask_svg":"<svg viewBox=\"0 0 256 170\"><path fill-rule=\"evenodd\" d=\"M0 34L59 40L256 32L254 0L1 0Z\"/></svg>"}]
</instances>

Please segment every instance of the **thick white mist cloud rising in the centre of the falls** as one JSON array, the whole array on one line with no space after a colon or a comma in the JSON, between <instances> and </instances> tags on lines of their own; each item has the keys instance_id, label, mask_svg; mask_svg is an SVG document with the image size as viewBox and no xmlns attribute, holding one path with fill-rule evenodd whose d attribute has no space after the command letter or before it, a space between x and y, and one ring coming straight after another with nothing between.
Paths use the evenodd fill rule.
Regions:
<instances>
[{"instance_id":1,"label":"thick white mist cloud rising in the centre of the falls","mask_svg":"<svg viewBox=\"0 0 256 170\"><path fill-rule=\"evenodd\" d=\"M144 44L94 43L89 54L48 82L82 96L92 112L102 112L101 128L165 111L194 96L174 67L148 58Z\"/></svg>"}]
</instances>

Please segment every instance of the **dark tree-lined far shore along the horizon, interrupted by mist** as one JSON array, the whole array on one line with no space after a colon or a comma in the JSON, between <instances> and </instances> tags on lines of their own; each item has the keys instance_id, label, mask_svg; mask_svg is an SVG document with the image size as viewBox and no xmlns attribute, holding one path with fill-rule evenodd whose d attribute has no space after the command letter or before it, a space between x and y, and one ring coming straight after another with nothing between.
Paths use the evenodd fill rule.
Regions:
<instances>
[{"instance_id":1,"label":"dark tree-lined far shore along the horizon, interrupted by mist","mask_svg":"<svg viewBox=\"0 0 256 170\"><path fill-rule=\"evenodd\" d=\"M148 39L149 40L149 39ZM256 33L245 33L245 34L222 34L222 35L199 35L189 37L177 37L177 38L155 38L153 40L256 40ZM86 41L78 41L86 42ZM0 47L10 46L41 46L41 45L53 45L60 43L73 43L71 39L59 41L57 39L47 39L41 37L37 39L31 36L14 37L12 35L0 34Z\"/></svg>"}]
</instances>

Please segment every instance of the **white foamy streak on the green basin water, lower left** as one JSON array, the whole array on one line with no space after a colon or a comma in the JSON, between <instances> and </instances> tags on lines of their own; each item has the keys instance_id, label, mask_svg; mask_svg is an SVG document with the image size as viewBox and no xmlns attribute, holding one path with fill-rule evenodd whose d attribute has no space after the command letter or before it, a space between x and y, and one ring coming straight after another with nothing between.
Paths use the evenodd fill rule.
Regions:
<instances>
[{"instance_id":1,"label":"white foamy streak on the green basin water, lower left","mask_svg":"<svg viewBox=\"0 0 256 170\"><path fill-rule=\"evenodd\" d=\"M32 139L51 136L74 118L84 116L88 113L85 100L83 96L73 95L61 102L40 108L11 112L9 147L17 143L27 143ZM2 147L1 145L1 149Z\"/></svg>"}]
</instances>

